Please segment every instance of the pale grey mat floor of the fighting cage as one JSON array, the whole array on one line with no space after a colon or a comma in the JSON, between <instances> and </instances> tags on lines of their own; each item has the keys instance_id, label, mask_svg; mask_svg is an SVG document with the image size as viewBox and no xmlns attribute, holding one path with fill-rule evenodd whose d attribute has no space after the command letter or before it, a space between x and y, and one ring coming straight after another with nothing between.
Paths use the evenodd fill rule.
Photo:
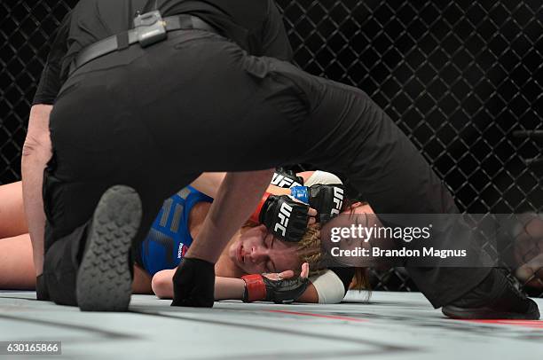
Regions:
<instances>
[{"instance_id":1,"label":"pale grey mat floor of the fighting cage","mask_svg":"<svg viewBox=\"0 0 543 360\"><path fill-rule=\"evenodd\" d=\"M374 292L360 303L364 296L193 309L136 295L129 313L89 313L32 301L35 293L0 292L0 340L61 340L62 356L43 356L61 359L543 358L543 321L458 321L421 293Z\"/></svg>"}]
</instances>

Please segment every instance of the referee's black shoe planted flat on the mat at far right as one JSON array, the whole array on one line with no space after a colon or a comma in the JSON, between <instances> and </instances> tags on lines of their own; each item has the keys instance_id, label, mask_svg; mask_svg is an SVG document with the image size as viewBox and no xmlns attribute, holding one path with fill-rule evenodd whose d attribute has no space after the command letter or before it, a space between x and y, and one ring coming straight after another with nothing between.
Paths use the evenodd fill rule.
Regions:
<instances>
[{"instance_id":1,"label":"referee's black shoe planted flat on the mat at far right","mask_svg":"<svg viewBox=\"0 0 543 360\"><path fill-rule=\"evenodd\" d=\"M457 319L539 320L538 304L518 290L503 271L492 269L481 284L441 311Z\"/></svg>"}]
</instances>

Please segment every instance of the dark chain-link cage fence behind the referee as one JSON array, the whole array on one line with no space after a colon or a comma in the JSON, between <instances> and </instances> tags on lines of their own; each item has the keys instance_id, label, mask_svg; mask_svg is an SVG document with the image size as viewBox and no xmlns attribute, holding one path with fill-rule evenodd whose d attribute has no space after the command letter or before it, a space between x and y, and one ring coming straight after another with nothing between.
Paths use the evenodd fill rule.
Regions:
<instances>
[{"instance_id":1,"label":"dark chain-link cage fence behind the referee","mask_svg":"<svg viewBox=\"0 0 543 360\"><path fill-rule=\"evenodd\" d=\"M0 4L0 184L20 179L48 41L75 3ZM445 179L463 211L541 212L543 137L530 132L543 130L539 0L278 4L296 63L365 90ZM531 252L541 247L536 240ZM401 269L371 272L375 289L415 290ZM539 279L523 281L532 295L543 293Z\"/></svg>"}]
</instances>

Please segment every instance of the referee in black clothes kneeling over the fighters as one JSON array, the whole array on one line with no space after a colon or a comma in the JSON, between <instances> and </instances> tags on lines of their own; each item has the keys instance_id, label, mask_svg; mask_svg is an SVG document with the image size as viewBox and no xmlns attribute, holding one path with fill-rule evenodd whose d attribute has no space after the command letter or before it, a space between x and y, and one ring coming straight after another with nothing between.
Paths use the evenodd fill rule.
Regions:
<instances>
[{"instance_id":1,"label":"referee in black clothes kneeling over the fighters","mask_svg":"<svg viewBox=\"0 0 543 360\"><path fill-rule=\"evenodd\" d=\"M23 152L38 296L126 309L130 243L203 171L230 173L174 277L174 305L212 306L213 264L278 165L345 174L376 214L458 212L363 91L291 57L271 0L81 0L53 43ZM539 318L497 270L406 265L448 316Z\"/></svg>"}]
</instances>

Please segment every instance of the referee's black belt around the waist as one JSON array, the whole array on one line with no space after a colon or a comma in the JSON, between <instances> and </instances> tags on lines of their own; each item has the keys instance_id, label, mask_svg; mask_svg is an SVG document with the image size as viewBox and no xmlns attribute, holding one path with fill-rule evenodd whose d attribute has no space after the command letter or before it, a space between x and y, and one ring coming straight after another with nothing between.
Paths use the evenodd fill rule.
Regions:
<instances>
[{"instance_id":1,"label":"referee's black belt around the waist","mask_svg":"<svg viewBox=\"0 0 543 360\"><path fill-rule=\"evenodd\" d=\"M211 27L207 22L193 15L181 14L169 16L161 20L161 28L143 33L142 28L133 28L117 35L112 35L84 48L77 54L70 67L70 74L86 63L98 59L110 52L119 51L139 43L142 47L158 43L166 39L166 33L176 30L205 30L218 34L215 27ZM149 36L146 36L149 34ZM146 37L145 37L146 36Z\"/></svg>"}]
</instances>

